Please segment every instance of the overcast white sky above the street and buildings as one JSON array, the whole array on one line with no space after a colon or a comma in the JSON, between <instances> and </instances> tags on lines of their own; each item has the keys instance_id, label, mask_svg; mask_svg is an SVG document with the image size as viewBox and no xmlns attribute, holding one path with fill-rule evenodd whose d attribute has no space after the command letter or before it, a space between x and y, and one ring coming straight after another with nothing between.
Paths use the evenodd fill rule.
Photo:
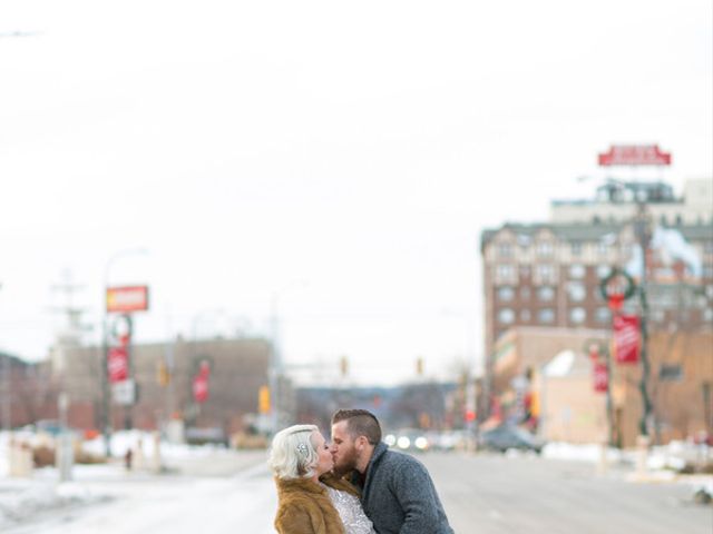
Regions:
<instances>
[{"instance_id":1,"label":"overcast white sky above the street and buildings","mask_svg":"<svg viewBox=\"0 0 713 534\"><path fill-rule=\"evenodd\" d=\"M69 269L138 340L265 333L388 383L481 356L479 236L656 142L713 176L711 1L0 0L0 347ZM629 175L631 176L631 175ZM218 312L221 310L221 312ZM88 342L98 342L95 330Z\"/></svg>"}]
</instances>

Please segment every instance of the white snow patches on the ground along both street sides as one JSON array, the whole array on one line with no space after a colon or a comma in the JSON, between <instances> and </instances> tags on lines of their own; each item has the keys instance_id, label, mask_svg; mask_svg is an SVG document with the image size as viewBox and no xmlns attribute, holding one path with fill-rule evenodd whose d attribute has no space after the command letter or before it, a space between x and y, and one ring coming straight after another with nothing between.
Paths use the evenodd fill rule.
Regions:
<instances>
[{"instance_id":1,"label":"white snow patches on the ground along both street sides","mask_svg":"<svg viewBox=\"0 0 713 534\"><path fill-rule=\"evenodd\" d=\"M36 444L42 438L30 433L13 433L14 439L25 439L28 443ZM240 485L235 484L234 478L228 479L208 479L192 476L178 475L157 475L149 469L150 458L154 456L154 447L156 441L152 434L138 431L117 432L111 436L113 458L106 464L94 465L75 465L72 468L72 481L60 483L58 472L53 467L45 467L35 469L29 477L18 478L9 476L9 435L0 433L0 531L4 531L11 526L18 527L28 518L37 520L47 515L48 517L61 516L69 513L78 506L99 505L115 500L119 500L121 504L111 506L115 512L130 514L131 504L137 505L137 500L149 500L152 502L160 502L160 508L164 510L167 503L170 507L178 510L179 506L192 506L196 511L209 511L209 498L216 496L225 496L235 501L236 506L242 506L241 500L245 497L245 488L253 485L270 485L270 476L267 475L265 463L258 458L251 458L252 463L258 463L255 473L260 476L253 478L244 478ZM123 455L128 448L137 451L140 446L138 456L143 456L145 468L134 472L127 472L121 461ZM102 455L105 451L101 437L85 442L82 449L95 455ZM617 466L623 471L633 472L637 462L636 451L619 451L607 448L607 464ZM135 453L136 454L136 453ZM223 447L215 446L187 446L179 444L160 443L160 455L164 462L188 464L192 461L201 461L203 458L215 458L222 455L231 454ZM573 445L567 443L549 443L543 449L543 457L548 459L587 462L597 464L602 461L603 449L599 445ZM666 475L668 479L676 478L675 472L681 469L686 463L700 463L707 458L713 459L713 451L711 447L701 447L691 443L672 442L665 447L653 447L647 456L647 469L653 476L651 479L665 482ZM245 464L247 465L247 464ZM247 469L247 473L254 469ZM680 483L688 484L692 491L704 488L713 494L712 476L686 476L680 477ZM185 484L191 484L191 492L185 492ZM240 487L238 487L240 486ZM257 487L257 486L255 486ZM262 487L262 486L261 486ZM274 492L266 491L265 494L272 495ZM189 495L189 501L184 495ZM247 500L250 501L250 498ZM273 502L262 503L265 510L274 506ZM96 506L94 506L96 507ZM102 508L104 510L104 508ZM109 510L109 508L107 508ZM271 508L272 510L272 508ZM119 511L119 512L117 512ZM51 514L46 514L51 512ZM107 512L108 513L108 512ZM155 522L159 525L166 520L166 510L164 512L152 512L156 514ZM198 512L196 512L198 513ZM91 514L89 515L91 517ZM101 514L97 515L97 522L100 521ZM86 531L91 532L92 523L86 525ZM196 520L198 521L198 520ZM126 523L126 522L125 522ZM138 523L137 523L138 524ZM145 522L141 524L146 524ZM176 532L184 532L186 525L175 525ZM196 525L193 525L196 526ZM31 531L28 531L31 532ZM45 531L42 531L45 532ZM49 528L47 532L55 532ZM61 525L56 525L56 532L61 532ZM138 532L138 531L137 531ZM186 526L186 531L187 526ZM253 531L251 531L253 532ZM258 531L254 531L258 532ZM270 531L272 532L272 531Z\"/></svg>"}]
</instances>

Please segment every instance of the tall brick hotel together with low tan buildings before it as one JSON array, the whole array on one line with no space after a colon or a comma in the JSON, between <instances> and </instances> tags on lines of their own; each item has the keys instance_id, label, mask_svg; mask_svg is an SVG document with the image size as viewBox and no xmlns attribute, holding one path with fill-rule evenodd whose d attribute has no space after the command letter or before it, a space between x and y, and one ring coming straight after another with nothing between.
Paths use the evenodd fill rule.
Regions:
<instances>
[{"instance_id":1,"label":"tall brick hotel together with low tan buildings before it","mask_svg":"<svg viewBox=\"0 0 713 534\"><path fill-rule=\"evenodd\" d=\"M641 208L644 251L636 231ZM553 200L550 212L548 221L507 222L481 235L481 409L529 418L547 439L583 443L606 439L609 417L613 442L634 445L641 366L611 365L607 408L588 359L593 345L611 345L603 279L615 268L639 279L645 254L653 437L711 435L713 181L688 180L676 198L661 181L608 180L594 199ZM641 314L638 299L626 300L623 312Z\"/></svg>"}]
</instances>

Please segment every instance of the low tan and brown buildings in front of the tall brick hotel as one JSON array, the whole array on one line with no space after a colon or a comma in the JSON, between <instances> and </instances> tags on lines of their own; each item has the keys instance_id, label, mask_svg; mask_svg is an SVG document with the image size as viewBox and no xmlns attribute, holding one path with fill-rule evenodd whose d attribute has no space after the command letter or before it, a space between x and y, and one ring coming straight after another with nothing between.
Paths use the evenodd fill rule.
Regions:
<instances>
[{"instance_id":1,"label":"low tan and brown buildings in front of the tall brick hotel","mask_svg":"<svg viewBox=\"0 0 713 534\"><path fill-rule=\"evenodd\" d=\"M496 343L494 393L504 416L517 409L518 380L537 398L539 432L547 441L596 443L607 431L606 395L594 389L593 342L607 344L607 330L587 328L515 327ZM654 333L648 344L653 403L653 437L657 443L699 433L713 435L713 333ZM557 373L547 373L554 359L570 354ZM642 397L641 365L611 364L612 441L634 446ZM527 380L524 378L528 377Z\"/></svg>"}]
</instances>

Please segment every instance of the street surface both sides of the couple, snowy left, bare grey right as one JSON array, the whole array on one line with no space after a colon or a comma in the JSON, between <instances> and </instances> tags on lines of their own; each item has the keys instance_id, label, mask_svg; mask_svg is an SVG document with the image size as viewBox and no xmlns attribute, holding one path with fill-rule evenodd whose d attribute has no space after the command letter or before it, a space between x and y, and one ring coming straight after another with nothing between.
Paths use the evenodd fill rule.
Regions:
<instances>
[{"instance_id":1,"label":"street surface both sides of the couple, snowy left, bare grey right","mask_svg":"<svg viewBox=\"0 0 713 534\"><path fill-rule=\"evenodd\" d=\"M694 504L684 484L631 483L622 471L597 475L589 463L534 456L419 457L458 533L710 534L713 528L713 507ZM8 533L274 533L276 497L263 459L264 453L221 452L180 465L184 474L78 481L72 484L106 498L48 511Z\"/></svg>"}]
</instances>

